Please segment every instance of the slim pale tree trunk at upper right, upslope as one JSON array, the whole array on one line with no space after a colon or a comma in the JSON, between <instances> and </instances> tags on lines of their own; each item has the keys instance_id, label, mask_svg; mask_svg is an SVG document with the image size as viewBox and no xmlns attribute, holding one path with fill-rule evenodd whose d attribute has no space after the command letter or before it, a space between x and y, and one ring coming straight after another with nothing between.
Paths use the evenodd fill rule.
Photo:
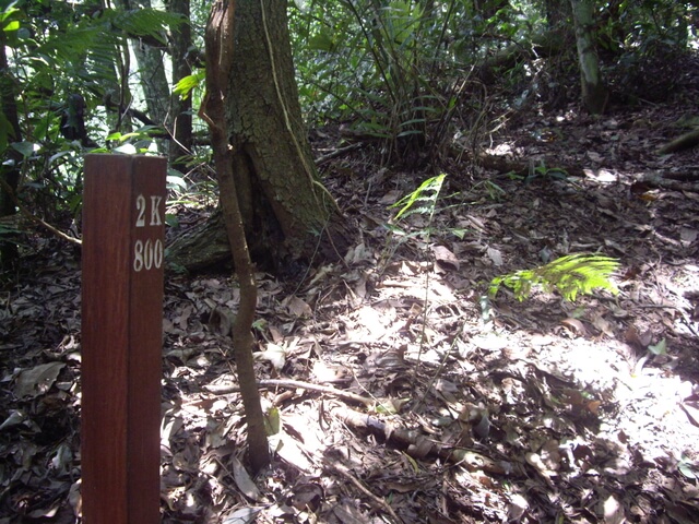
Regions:
<instances>
[{"instance_id":1,"label":"slim pale tree trunk at upper right, upslope","mask_svg":"<svg viewBox=\"0 0 699 524\"><path fill-rule=\"evenodd\" d=\"M594 49L594 5L592 0L570 0L570 5L576 25L582 102L591 114L601 115L607 105L608 93L600 75Z\"/></svg>"}]
</instances>

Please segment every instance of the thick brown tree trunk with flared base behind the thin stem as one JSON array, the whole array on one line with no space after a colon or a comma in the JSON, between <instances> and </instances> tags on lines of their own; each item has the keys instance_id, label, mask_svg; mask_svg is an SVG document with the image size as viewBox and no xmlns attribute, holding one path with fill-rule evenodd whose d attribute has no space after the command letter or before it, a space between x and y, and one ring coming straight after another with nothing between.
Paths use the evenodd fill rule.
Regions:
<instances>
[{"instance_id":1,"label":"thick brown tree trunk with flared base behind the thin stem","mask_svg":"<svg viewBox=\"0 0 699 524\"><path fill-rule=\"evenodd\" d=\"M351 237L313 165L298 103L286 5L286 0L237 1L225 108L250 252L270 271L315 255L337 260ZM210 224L202 230L221 238ZM196 254L197 236L170 246L170 262L191 267L182 254ZM198 260L197 266L203 265Z\"/></svg>"}]
</instances>

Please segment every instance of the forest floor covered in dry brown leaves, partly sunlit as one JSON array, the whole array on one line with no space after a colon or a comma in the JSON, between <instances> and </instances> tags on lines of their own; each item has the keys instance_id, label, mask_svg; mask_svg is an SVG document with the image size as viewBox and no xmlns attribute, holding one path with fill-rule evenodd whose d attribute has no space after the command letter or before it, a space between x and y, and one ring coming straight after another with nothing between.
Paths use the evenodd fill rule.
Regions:
<instances>
[{"instance_id":1,"label":"forest floor covered in dry brown leaves, partly sunlit","mask_svg":"<svg viewBox=\"0 0 699 524\"><path fill-rule=\"evenodd\" d=\"M324 163L358 240L297 282L258 275L280 429L257 478L228 357L237 288L167 274L163 522L699 522L699 150L656 154L686 107L520 116L491 153L522 176L458 148L439 171L362 148ZM321 135L319 156L337 145ZM392 219L440 172L434 213ZM32 242L0 295L2 524L75 522L80 501L79 253ZM483 298L581 252L619 259L617 295Z\"/></svg>"}]
</instances>

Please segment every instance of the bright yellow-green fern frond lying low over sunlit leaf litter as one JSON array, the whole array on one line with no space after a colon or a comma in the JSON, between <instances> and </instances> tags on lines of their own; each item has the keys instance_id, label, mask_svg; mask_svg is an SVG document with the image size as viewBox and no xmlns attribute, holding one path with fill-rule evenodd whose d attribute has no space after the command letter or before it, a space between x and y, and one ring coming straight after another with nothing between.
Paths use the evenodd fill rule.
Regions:
<instances>
[{"instance_id":1,"label":"bright yellow-green fern frond lying low over sunlit leaf litter","mask_svg":"<svg viewBox=\"0 0 699 524\"><path fill-rule=\"evenodd\" d=\"M557 289L566 300L574 301L578 294L590 295L593 289L608 289L616 294L609 281L619 266L617 259L596 253L578 253L561 257L533 270L522 270L498 276L490 283L489 295L495 297L505 284L518 300L529 297L532 286L540 285L546 291Z\"/></svg>"}]
</instances>

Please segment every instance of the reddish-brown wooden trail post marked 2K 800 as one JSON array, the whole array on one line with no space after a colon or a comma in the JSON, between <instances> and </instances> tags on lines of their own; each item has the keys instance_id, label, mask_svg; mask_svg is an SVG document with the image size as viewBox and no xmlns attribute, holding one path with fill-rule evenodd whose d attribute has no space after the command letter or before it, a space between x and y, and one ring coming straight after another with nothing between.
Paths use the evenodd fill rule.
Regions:
<instances>
[{"instance_id":1,"label":"reddish-brown wooden trail post marked 2K 800","mask_svg":"<svg viewBox=\"0 0 699 524\"><path fill-rule=\"evenodd\" d=\"M165 158L87 155L82 255L85 524L159 514Z\"/></svg>"}]
</instances>

